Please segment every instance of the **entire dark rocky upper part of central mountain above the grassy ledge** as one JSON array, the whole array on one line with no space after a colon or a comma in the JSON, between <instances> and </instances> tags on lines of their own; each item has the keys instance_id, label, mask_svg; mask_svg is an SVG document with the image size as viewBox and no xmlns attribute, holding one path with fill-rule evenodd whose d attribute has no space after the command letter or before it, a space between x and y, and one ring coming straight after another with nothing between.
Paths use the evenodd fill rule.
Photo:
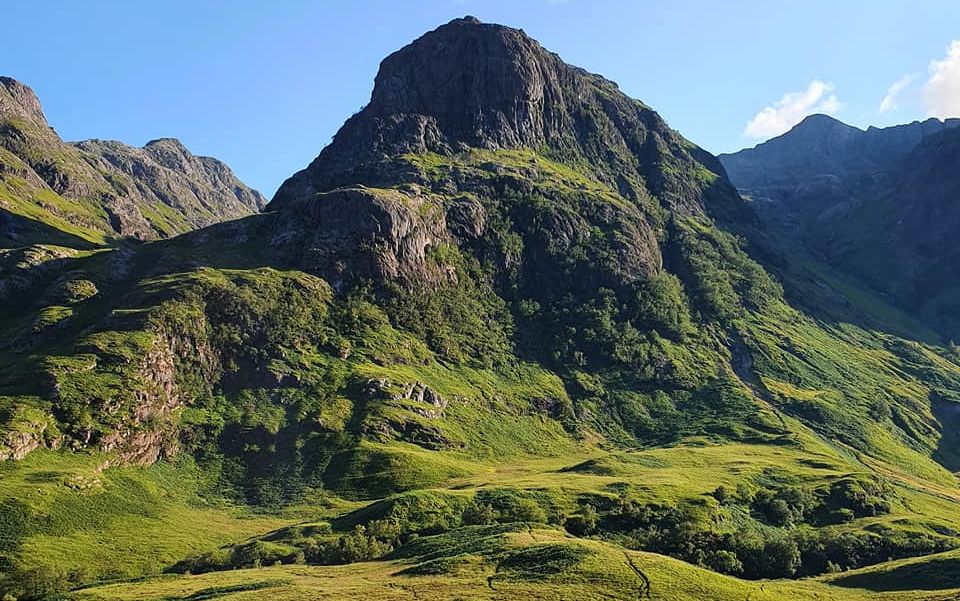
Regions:
<instances>
[{"instance_id":1,"label":"entire dark rocky upper part of central mountain above the grassy ledge","mask_svg":"<svg viewBox=\"0 0 960 601\"><path fill-rule=\"evenodd\" d=\"M428 183L400 157L528 148L590 164L633 200L654 196L683 213L732 211L723 168L616 84L564 63L522 30L455 19L387 57L370 103L272 208L349 184ZM665 168L669 167L669 168ZM707 191L686 177L719 177Z\"/></svg>"}]
</instances>

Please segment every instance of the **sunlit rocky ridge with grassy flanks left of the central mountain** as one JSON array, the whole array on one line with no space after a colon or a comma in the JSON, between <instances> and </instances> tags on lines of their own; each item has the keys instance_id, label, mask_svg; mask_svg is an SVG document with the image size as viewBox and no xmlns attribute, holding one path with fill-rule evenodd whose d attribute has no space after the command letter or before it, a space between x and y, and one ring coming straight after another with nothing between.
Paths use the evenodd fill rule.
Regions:
<instances>
[{"instance_id":1,"label":"sunlit rocky ridge with grassy flanks left of the central mountain","mask_svg":"<svg viewBox=\"0 0 960 601\"><path fill-rule=\"evenodd\" d=\"M226 165L176 140L65 143L33 90L0 77L0 246L168 237L265 204Z\"/></svg>"}]
</instances>

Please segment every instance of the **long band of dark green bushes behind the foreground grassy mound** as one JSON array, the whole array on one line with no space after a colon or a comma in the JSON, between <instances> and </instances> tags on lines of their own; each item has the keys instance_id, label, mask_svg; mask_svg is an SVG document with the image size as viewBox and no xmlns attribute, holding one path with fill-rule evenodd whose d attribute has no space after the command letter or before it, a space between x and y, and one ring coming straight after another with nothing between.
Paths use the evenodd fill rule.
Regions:
<instances>
[{"instance_id":1,"label":"long band of dark green bushes behind the foreground grassy mound","mask_svg":"<svg viewBox=\"0 0 960 601\"><path fill-rule=\"evenodd\" d=\"M381 501L327 523L300 525L262 539L185 559L174 568L200 573L274 564L345 564L404 553L428 535L461 527L563 524L576 536L599 536L628 548L676 557L742 578L793 578L943 551L945 537L911 532L841 532L816 528L838 511L854 516L889 509L882 482L848 477L823 490L797 486L718 487L716 506L641 503L626 494L584 504L574 514L548 493L509 488L459 495L414 492ZM885 509L886 508L886 509ZM717 511L740 511L733 531L715 528ZM832 522L830 522L832 523ZM419 543L417 543L419 544Z\"/></svg>"}]
</instances>

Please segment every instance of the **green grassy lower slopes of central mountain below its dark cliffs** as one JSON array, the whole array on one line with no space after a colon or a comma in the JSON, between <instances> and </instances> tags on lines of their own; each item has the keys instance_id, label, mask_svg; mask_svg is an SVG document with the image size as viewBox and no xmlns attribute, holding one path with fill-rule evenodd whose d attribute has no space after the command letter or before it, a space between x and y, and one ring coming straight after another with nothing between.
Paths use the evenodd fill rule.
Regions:
<instances>
[{"instance_id":1,"label":"green grassy lower slopes of central mountain below its dark cliffs","mask_svg":"<svg viewBox=\"0 0 960 601\"><path fill-rule=\"evenodd\" d=\"M616 282L623 264L603 267L607 242L549 250L564 205L537 194L632 219L624 199L533 154L406 160L478 169L482 182L494 160L527 181L531 159L532 196L484 205L503 225L426 255L425 273L456 274L429 296L337 289L301 270L269 243L289 227L283 212L72 254L25 280L30 293L2 324L4 444L26 455L0 479L17 533L7 590L29 599L167 570L223 573L130 585L172 595L162 587L261 582L236 568L378 560L350 572L362 581L401 569L379 560L413 557L427 537L517 522L549 525L576 557L577 545L675 557L687 563L667 564L664 579L690 570L718 591L754 585L704 569L809 576L957 546L960 490L932 401L958 388L948 349L791 308L733 236L699 217L664 222L670 271L598 294L582 274ZM431 202L420 214L452 201ZM560 278L525 271L539 245L569 257ZM70 526L53 530L57 520ZM158 534L141 544L144 532ZM495 569L510 549L496 540L495 557L466 565ZM576 566L572 584L535 594L593 578ZM303 594L310 574L347 568L290 569L277 592ZM476 574L449 578L428 588L469 588ZM546 586L517 578L504 586ZM82 594L100 590L119 589Z\"/></svg>"}]
</instances>

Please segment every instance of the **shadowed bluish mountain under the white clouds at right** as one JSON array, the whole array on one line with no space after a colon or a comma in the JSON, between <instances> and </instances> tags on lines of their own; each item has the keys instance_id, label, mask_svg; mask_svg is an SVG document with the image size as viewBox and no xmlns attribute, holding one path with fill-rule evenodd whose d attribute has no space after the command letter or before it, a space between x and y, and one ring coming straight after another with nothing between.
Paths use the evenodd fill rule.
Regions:
<instances>
[{"instance_id":1,"label":"shadowed bluish mountain under the white clouds at right","mask_svg":"<svg viewBox=\"0 0 960 601\"><path fill-rule=\"evenodd\" d=\"M960 337L957 125L863 131L814 115L720 160L781 240L814 249L951 339Z\"/></svg>"}]
</instances>

